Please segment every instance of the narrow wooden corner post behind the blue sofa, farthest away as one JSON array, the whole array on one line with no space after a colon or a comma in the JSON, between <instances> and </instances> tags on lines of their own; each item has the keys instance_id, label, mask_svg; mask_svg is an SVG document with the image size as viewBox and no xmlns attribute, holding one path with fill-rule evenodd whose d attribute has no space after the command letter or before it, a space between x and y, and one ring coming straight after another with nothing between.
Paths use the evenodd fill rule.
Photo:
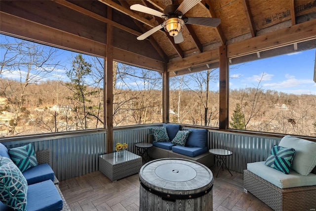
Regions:
<instances>
[{"instance_id":1,"label":"narrow wooden corner post behind the blue sofa, farthest away","mask_svg":"<svg viewBox=\"0 0 316 211\"><path fill-rule=\"evenodd\" d=\"M162 121L169 122L169 72L167 68L162 74Z\"/></svg>"}]
</instances>

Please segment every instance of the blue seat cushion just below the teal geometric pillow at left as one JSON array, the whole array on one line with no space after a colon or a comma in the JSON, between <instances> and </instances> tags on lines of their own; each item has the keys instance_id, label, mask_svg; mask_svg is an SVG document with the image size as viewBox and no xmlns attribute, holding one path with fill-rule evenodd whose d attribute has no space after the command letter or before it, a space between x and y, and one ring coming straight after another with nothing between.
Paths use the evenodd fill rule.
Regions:
<instances>
[{"instance_id":1,"label":"blue seat cushion just below the teal geometric pillow at left","mask_svg":"<svg viewBox=\"0 0 316 211\"><path fill-rule=\"evenodd\" d=\"M48 164L40 164L23 172L23 176L28 181L28 185L50 179L54 181L54 171Z\"/></svg>"}]
</instances>

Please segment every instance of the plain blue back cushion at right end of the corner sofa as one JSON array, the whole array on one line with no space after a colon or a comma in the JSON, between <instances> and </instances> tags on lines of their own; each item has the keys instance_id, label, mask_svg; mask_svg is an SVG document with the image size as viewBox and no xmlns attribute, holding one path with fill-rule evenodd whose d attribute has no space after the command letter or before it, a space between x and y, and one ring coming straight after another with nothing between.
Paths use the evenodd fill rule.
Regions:
<instances>
[{"instance_id":1,"label":"plain blue back cushion at right end of the corner sofa","mask_svg":"<svg viewBox=\"0 0 316 211\"><path fill-rule=\"evenodd\" d=\"M190 129L191 133L186 142L186 146L205 147L207 141L206 129Z\"/></svg>"}]
</instances>

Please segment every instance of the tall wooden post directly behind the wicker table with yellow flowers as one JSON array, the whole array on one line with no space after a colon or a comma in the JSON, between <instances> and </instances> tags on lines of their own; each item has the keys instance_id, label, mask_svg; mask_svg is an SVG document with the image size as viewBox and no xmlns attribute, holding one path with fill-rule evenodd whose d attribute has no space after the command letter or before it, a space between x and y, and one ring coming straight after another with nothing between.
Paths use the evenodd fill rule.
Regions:
<instances>
[{"instance_id":1,"label":"tall wooden post directly behind the wicker table with yellow flowers","mask_svg":"<svg viewBox=\"0 0 316 211\"><path fill-rule=\"evenodd\" d=\"M108 18L112 20L112 8L108 7ZM113 26L107 24L107 49L105 59L106 83L106 125L107 128L107 153L113 152Z\"/></svg>"}]
</instances>

